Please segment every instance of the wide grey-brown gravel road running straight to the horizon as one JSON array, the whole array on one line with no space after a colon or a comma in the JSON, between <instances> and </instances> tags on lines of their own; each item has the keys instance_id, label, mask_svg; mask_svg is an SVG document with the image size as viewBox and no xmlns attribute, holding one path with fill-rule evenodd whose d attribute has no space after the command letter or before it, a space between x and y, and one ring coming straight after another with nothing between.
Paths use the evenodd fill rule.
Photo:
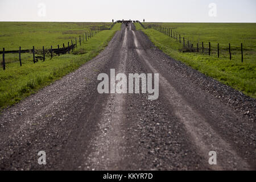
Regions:
<instances>
[{"instance_id":1,"label":"wide grey-brown gravel road running straight to the horizon","mask_svg":"<svg viewBox=\"0 0 256 182\"><path fill-rule=\"evenodd\" d=\"M99 94L97 76L110 69L159 73L158 100ZM165 55L130 24L77 71L2 111L0 169L255 170L255 108L255 99Z\"/></svg>"}]
</instances>

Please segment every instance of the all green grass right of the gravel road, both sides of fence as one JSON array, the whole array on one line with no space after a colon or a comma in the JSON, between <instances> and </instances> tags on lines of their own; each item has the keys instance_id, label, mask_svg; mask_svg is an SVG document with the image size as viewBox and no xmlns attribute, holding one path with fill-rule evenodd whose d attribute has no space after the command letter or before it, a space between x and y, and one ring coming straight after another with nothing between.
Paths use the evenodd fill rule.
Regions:
<instances>
[{"instance_id":1,"label":"all green grass right of the gravel road, both sides of fence","mask_svg":"<svg viewBox=\"0 0 256 182\"><path fill-rule=\"evenodd\" d=\"M193 42L211 42L217 49L220 43L220 58L213 52L184 52L183 45L159 31L150 28L153 24L172 27L181 37ZM197 69L207 76L240 90L247 96L256 98L256 23L145 23L144 30L139 23L135 26L142 30L156 47L176 60ZM232 44L232 60L229 60L228 44ZM241 63L241 43L244 49L244 61ZM215 47L214 47L215 46ZM207 46L205 46L207 47Z\"/></svg>"}]
</instances>

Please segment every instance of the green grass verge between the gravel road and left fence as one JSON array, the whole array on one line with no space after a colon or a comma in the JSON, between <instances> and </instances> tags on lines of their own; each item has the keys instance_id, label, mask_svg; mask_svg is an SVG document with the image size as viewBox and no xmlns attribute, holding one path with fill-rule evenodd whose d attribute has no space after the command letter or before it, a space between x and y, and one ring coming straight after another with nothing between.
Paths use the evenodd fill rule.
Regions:
<instances>
[{"instance_id":1,"label":"green grass verge between the gravel road and left fence","mask_svg":"<svg viewBox=\"0 0 256 182\"><path fill-rule=\"evenodd\" d=\"M33 64L32 61L26 61L22 67L16 62L7 64L6 70L0 71L0 108L19 102L97 56L120 28L121 24L117 23L112 30L101 31L82 46L78 46L71 54L56 56L53 59L47 55L44 62L39 60ZM31 57L31 54L22 56Z\"/></svg>"}]
</instances>

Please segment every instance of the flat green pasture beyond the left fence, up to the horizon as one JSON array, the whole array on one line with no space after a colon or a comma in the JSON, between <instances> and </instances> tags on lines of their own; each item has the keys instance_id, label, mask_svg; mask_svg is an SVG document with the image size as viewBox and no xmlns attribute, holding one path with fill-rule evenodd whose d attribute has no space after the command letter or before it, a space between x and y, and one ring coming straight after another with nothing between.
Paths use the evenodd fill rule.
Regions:
<instances>
[{"instance_id":1,"label":"flat green pasture beyond the left fence, up to the horizon","mask_svg":"<svg viewBox=\"0 0 256 182\"><path fill-rule=\"evenodd\" d=\"M0 48L6 51L42 49L65 45L93 27L110 28L112 23L0 22Z\"/></svg>"}]
</instances>

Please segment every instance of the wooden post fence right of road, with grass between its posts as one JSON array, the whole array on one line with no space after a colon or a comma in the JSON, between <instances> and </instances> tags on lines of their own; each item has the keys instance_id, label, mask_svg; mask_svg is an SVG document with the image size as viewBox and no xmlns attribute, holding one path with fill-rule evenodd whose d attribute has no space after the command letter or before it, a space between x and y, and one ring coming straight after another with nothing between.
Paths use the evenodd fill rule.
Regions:
<instances>
[{"instance_id":1,"label":"wooden post fence right of road, with grass between its posts","mask_svg":"<svg viewBox=\"0 0 256 182\"><path fill-rule=\"evenodd\" d=\"M233 55L241 55L241 61L243 63L243 51L245 50L250 50L249 47L241 45L239 46L233 46L229 43L228 45L222 45L220 46L219 43L212 44L210 42L194 42L191 40L186 39L184 36L181 36L178 32L174 31L175 28L167 28L167 27L162 27L158 25L151 25L148 28L154 28L156 31L161 32L162 34L169 36L172 39L177 40L180 44L183 45L183 51L184 52L199 52L203 54L208 54L209 56L211 55L216 55L218 58L222 57L227 57L229 60L232 60Z\"/></svg>"}]
</instances>

